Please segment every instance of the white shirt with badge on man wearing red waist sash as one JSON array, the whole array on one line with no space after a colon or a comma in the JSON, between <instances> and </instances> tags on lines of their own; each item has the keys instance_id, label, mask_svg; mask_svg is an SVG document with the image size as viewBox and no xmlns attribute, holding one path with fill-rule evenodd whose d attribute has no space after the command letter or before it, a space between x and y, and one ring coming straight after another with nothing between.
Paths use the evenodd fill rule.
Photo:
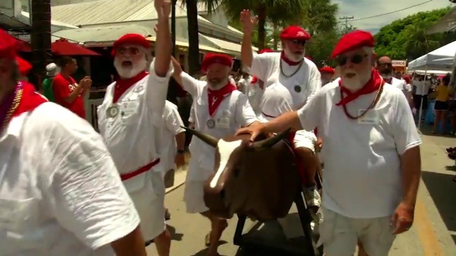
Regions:
<instances>
[{"instance_id":1,"label":"white shirt with badge on man wearing red waist sash","mask_svg":"<svg viewBox=\"0 0 456 256\"><path fill-rule=\"evenodd\" d=\"M150 74L133 84L114 104L116 83L106 89L105 99L97 109L98 127L120 174L134 172L159 158L163 109L172 72L170 64L168 74L159 77L152 62ZM115 116L110 116L111 107L118 109ZM148 172L123 183L131 193L144 186L145 177Z\"/></svg>"}]
</instances>

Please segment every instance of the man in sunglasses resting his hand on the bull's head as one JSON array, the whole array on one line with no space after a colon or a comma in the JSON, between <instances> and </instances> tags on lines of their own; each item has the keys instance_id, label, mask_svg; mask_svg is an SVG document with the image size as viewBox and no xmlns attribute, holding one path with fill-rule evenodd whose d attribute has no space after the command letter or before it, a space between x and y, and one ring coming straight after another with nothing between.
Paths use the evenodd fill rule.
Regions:
<instances>
[{"instance_id":1,"label":"man in sunglasses resting his hand on the bull's head","mask_svg":"<svg viewBox=\"0 0 456 256\"><path fill-rule=\"evenodd\" d=\"M396 235L413 222L420 183L421 139L403 93L372 66L374 37L344 35L332 54L341 80L324 86L298 111L241 129L254 139L288 127L323 137L323 223L326 255L353 255L359 239L367 254L387 255Z\"/></svg>"}]
</instances>

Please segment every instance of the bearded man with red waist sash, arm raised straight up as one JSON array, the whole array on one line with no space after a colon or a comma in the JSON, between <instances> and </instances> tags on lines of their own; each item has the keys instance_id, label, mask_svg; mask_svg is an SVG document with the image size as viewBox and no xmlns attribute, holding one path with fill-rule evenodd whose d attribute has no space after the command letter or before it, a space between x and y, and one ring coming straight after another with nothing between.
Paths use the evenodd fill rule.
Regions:
<instances>
[{"instance_id":1,"label":"bearded man with red waist sash, arm raised straight up","mask_svg":"<svg viewBox=\"0 0 456 256\"><path fill-rule=\"evenodd\" d=\"M155 59L147 67L150 43L142 35L126 34L115 41L112 54L120 79L108 86L97 113L100 134L138 210L144 240L153 239L158 254L164 256L170 253L171 237L164 220L164 170L158 163L168 153L161 148L160 137L172 75L171 4L164 0L154 4L158 14Z\"/></svg>"}]
</instances>

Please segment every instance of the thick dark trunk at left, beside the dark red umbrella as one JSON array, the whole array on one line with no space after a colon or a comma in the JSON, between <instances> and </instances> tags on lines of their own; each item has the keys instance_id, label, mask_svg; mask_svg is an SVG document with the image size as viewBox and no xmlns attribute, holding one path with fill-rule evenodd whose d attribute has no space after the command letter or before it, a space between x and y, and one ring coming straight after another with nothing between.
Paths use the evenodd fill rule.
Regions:
<instances>
[{"instance_id":1,"label":"thick dark trunk at left, beside the dark red umbrella","mask_svg":"<svg viewBox=\"0 0 456 256\"><path fill-rule=\"evenodd\" d=\"M30 35L32 46L33 78L37 90L41 87L46 75L46 65L51 62L51 1L32 1L32 31Z\"/></svg>"}]
</instances>

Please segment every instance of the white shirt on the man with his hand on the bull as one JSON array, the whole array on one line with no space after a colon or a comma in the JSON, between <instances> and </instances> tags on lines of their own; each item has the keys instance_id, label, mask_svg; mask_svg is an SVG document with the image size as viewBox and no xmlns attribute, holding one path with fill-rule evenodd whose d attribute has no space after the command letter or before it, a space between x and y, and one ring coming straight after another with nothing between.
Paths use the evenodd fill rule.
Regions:
<instances>
[{"instance_id":1,"label":"white shirt on the man with his hand on the bull","mask_svg":"<svg viewBox=\"0 0 456 256\"><path fill-rule=\"evenodd\" d=\"M348 112L358 116L375 94L349 102ZM402 200L400 155L421 144L409 104L386 83L374 110L351 120L340 99L339 84L329 83L298 111L303 128L318 127L324 141L323 206L349 218L390 216Z\"/></svg>"}]
</instances>

